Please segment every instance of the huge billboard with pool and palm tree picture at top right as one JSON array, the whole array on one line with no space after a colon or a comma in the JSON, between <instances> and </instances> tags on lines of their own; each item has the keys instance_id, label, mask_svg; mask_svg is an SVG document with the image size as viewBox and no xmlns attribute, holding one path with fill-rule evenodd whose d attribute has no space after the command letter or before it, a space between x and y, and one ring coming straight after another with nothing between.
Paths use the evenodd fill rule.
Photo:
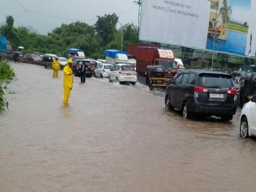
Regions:
<instances>
[{"instance_id":1,"label":"huge billboard with pool and palm tree picture at top right","mask_svg":"<svg viewBox=\"0 0 256 192\"><path fill-rule=\"evenodd\" d=\"M140 40L254 55L256 0L143 0Z\"/></svg>"}]
</instances>

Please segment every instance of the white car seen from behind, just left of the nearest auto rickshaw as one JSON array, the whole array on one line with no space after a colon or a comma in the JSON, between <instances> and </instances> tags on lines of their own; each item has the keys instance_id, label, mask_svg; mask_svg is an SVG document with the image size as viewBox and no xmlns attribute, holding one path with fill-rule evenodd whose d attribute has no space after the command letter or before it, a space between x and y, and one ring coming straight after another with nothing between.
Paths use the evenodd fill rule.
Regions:
<instances>
[{"instance_id":1,"label":"white car seen from behind, just left of the nearest auto rickshaw","mask_svg":"<svg viewBox=\"0 0 256 192\"><path fill-rule=\"evenodd\" d=\"M111 69L108 80L109 82L119 82L119 84L128 82L135 85L137 82L137 73L132 65L118 64Z\"/></svg>"}]
</instances>

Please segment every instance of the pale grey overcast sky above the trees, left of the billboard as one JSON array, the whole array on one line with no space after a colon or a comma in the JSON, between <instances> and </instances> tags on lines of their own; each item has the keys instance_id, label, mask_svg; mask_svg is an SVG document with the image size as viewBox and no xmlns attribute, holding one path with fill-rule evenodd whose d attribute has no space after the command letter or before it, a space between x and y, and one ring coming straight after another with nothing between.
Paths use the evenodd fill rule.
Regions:
<instances>
[{"instance_id":1,"label":"pale grey overcast sky above the trees, left of the billboard","mask_svg":"<svg viewBox=\"0 0 256 192\"><path fill-rule=\"evenodd\" d=\"M12 15L15 26L31 26L47 34L62 23L82 21L93 25L97 16L116 13L121 24L138 23L138 5L134 0L0 0L0 24ZM120 24L118 24L118 27Z\"/></svg>"}]
</instances>

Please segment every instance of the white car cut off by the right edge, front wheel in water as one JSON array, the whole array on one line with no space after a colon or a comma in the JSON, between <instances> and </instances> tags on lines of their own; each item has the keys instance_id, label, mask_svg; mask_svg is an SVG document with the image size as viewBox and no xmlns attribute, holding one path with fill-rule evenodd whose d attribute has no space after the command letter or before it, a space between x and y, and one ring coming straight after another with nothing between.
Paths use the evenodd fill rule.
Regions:
<instances>
[{"instance_id":1,"label":"white car cut off by the right edge, front wheel in water","mask_svg":"<svg viewBox=\"0 0 256 192\"><path fill-rule=\"evenodd\" d=\"M256 136L256 95L244 104L240 116L240 136L243 138Z\"/></svg>"}]
</instances>

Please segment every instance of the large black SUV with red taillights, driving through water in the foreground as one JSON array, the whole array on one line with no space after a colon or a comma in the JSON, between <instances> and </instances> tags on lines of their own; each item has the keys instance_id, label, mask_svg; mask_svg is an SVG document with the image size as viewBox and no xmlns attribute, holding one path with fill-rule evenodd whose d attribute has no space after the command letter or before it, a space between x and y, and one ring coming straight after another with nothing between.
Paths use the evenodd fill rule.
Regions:
<instances>
[{"instance_id":1,"label":"large black SUV with red taillights, driving through water in the foreground","mask_svg":"<svg viewBox=\"0 0 256 192\"><path fill-rule=\"evenodd\" d=\"M166 88L165 106L182 110L185 118L199 113L229 121L236 113L232 76L204 69L185 70Z\"/></svg>"}]
</instances>

